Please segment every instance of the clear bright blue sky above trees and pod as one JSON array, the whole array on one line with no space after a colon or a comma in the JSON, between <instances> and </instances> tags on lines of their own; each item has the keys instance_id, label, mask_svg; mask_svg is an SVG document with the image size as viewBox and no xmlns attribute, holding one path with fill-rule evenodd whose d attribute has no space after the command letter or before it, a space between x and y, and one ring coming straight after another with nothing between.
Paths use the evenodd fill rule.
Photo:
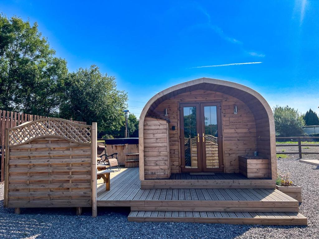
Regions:
<instances>
[{"instance_id":1,"label":"clear bright blue sky above trees and pod","mask_svg":"<svg viewBox=\"0 0 319 239\"><path fill-rule=\"evenodd\" d=\"M0 1L48 38L70 71L115 76L139 113L157 92L211 77L318 113L319 1ZM233 63L256 64L203 67Z\"/></svg>"}]
</instances>

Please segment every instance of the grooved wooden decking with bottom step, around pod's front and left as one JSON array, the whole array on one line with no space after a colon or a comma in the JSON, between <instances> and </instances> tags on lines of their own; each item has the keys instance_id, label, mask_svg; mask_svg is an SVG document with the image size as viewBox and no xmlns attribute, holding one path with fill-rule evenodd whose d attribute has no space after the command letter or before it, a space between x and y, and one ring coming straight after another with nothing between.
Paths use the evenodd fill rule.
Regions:
<instances>
[{"instance_id":1,"label":"grooved wooden decking with bottom step, around pod's front and left","mask_svg":"<svg viewBox=\"0 0 319 239\"><path fill-rule=\"evenodd\" d=\"M138 168L111 174L110 191L100 184L97 206L130 206L130 221L285 225L307 222L298 214L298 201L274 188L141 189Z\"/></svg>"}]
</instances>

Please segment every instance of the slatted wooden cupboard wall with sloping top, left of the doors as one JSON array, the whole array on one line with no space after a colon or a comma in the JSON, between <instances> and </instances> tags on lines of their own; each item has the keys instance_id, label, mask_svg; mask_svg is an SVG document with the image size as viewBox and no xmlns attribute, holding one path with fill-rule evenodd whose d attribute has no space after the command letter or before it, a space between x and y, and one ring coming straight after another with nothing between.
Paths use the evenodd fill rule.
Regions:
<instances>
[{"instance_id":1,"label":"slatted wooden cupboard wall with sloping top, left of the doors","mask_svg":"<svg viewBox=\"0 0 319 239\"><path fill-rule=\"evenodd\" d=\"M169 130L166 120L145 117L144 120L144 174L145 179L169 178Z\"/></svg>"}]
</instances>

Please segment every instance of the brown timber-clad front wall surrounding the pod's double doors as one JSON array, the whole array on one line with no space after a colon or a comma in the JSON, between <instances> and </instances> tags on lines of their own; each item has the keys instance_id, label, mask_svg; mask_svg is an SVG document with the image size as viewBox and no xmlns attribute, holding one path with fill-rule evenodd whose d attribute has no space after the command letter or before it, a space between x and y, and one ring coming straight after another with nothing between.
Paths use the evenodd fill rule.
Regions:
<instances>
[{"instance_id":1,"label":"brown timber-clad front wall surrounding the pod's double doors","mask_svg":"<svg viewBox=\"0 0 319 239\"><path fill-rule=\"evenodd\" d=\"M256 125L252 111L239 100L227 94L196 90L176 95L160 103L152 116L169 121L170 165L172 173L180 172L179 103L220 102L223 127L223 157L226 173L239 172L238 156L252 155L257 150ZM234 114L237 105L238 114ZM168 116L164 116L167 108ZM172 130L172 127L175 130ZM144 140L145 141L145 140Z\"/></svg>"}]
</instances>

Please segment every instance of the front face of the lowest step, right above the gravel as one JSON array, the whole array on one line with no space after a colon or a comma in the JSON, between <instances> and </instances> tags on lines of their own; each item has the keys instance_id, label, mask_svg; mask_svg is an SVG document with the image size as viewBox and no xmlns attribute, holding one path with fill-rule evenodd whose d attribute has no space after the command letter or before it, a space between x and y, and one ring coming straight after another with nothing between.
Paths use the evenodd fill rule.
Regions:
<instances>
[{"instance_id":1,"label":"front face of the lowest step, right above the gravel","mask_svg":"<svg viewBox=\"0 0 319 239\"><path fill-rule=\"evenodd\" d=\"M197 217L128 217L128 221L200 222L223 224L307 225L307 218L197 218Z\"/></svg>"}]
</instances>

